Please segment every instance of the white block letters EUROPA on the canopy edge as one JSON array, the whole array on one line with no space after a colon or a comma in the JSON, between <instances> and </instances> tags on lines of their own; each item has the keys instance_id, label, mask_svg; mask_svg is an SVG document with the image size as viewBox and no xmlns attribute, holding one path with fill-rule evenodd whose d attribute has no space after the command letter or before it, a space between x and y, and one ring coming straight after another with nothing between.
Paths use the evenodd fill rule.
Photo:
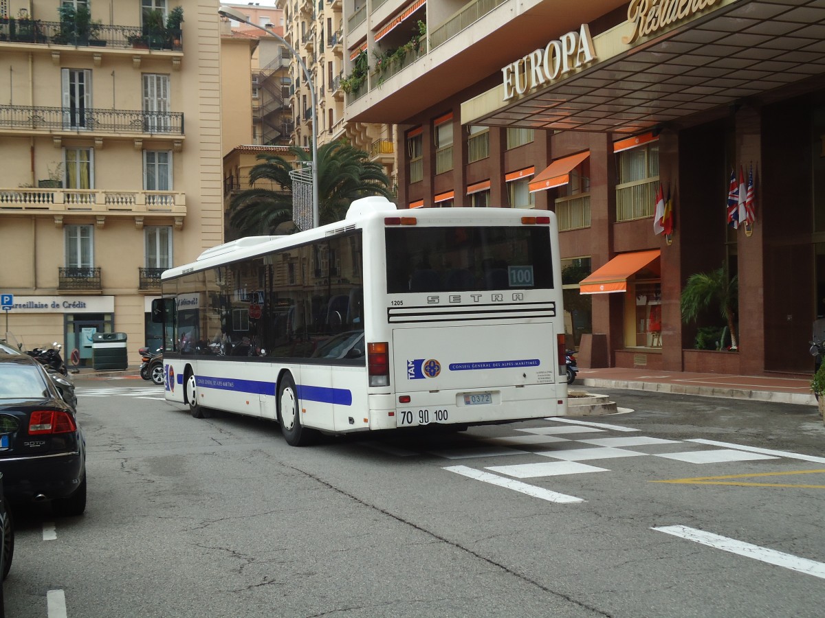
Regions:
<instances>
[{"instance_id":1,"label":"white block letters EUROPA on the canopy edge","mask_svg":"<svg viewBox=\"0 0 825 618\"><path fill-rule=\"evenodd\" d=\"M561 35L559 40L551 40L543 49L536 49L502 68L503 101L554 82L595 58L590 28L587 24L582 24L578 32Z\"/></svg>"}]
</instances>

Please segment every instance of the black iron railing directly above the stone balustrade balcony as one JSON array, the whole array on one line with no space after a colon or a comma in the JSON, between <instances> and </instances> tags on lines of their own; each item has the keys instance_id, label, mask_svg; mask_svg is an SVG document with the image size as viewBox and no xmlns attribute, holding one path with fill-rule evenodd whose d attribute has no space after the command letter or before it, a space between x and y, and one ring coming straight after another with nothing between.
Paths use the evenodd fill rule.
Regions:
<instances>
[{"instance_id":1,"label":"black iron railing directly above the stone balustrade balcony","mask_svg":"<svg viewBox=\"0 0 825 618\"><path fill-rule=\"evenodd\" d=\"M0 105L0 128L183 134L183 113Z\"/></svg>"}]
</instances>

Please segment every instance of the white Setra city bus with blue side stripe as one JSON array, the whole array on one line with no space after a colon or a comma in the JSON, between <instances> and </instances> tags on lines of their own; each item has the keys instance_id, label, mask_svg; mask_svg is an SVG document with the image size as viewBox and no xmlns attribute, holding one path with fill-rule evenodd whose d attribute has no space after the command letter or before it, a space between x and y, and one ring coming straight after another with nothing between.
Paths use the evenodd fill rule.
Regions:
<instances>
[{"instance_id":1,"label":"white Setra city bus with blue side stripe","mask_svg":"<svg viewBox=\"0 0 825 618\"><path fill-rule=\"evenodd\" d=\"M397 210L205 250L162 276L167 400L286 441L567 413L554 213Z\"/></svg>"}]
</instances>

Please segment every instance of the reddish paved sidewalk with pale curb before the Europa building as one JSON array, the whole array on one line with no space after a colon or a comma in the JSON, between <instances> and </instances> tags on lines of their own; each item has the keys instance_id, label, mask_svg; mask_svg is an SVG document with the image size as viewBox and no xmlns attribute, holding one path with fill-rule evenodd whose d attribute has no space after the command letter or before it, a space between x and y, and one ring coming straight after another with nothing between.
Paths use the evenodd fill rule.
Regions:
<instances>
[{"instance_id":1,"label":"reddish paved sidewalk with pale curb before the Europa building","mask_svg":"<svg viewBox=\"0 0 825 618\"><path fill-rule=\"evenodd\" d=\"M578 372L576 383L593 388L627 388L676 395L730 397L785 404L817 405L810 379L793 377L730 376L721 373L599 368Z\"/></svg>"}]
</instances>

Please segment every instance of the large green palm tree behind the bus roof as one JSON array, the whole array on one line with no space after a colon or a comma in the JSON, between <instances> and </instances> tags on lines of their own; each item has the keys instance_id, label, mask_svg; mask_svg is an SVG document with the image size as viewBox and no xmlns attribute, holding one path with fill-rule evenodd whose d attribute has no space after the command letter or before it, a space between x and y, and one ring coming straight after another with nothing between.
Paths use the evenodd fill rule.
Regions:
<instances>
[{"instance_id":1,"label":"large green palm tree behind the bus roof","mask_svg":"<svg viewBox=\"0 0 825 618\"><path fill-rule=\"evenodd\" d=\"M249 183L267 180L281 190L253 188L239 191L229 201L229 222L243 234L271 234L292 219L292 179L295 162L312 160L305 148L290 147L293 160L279 155L258 155ZM318 218L320 224L340 221L353 199L368 195L392 198L389 177L380 163L371 162L363 150L344 142L318 147Z\"/></svg>"}]
</instances>

